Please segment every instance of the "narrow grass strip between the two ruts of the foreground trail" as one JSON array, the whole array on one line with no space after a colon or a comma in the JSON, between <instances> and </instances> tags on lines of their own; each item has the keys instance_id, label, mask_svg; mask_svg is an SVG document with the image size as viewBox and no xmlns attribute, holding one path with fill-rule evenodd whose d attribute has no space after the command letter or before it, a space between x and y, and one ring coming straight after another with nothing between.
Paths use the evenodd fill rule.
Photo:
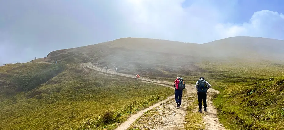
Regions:
<instances>
[{"instance_id":1,"label":"narrow grass strip between the two ruts of the foreground trail","mask_svg":"<svg viewBox=\"0 0 284 130\"><path fill-rule=\"evenodd\" d=\"M189 97L187 100L193 102L189 102L188 107L186 109L186 123L184 123L185 130L204 129L205 124L203 123L202 113L199 113L196 110L196 104L198 104L197 98Z\"/></svg>"}]
</instances>

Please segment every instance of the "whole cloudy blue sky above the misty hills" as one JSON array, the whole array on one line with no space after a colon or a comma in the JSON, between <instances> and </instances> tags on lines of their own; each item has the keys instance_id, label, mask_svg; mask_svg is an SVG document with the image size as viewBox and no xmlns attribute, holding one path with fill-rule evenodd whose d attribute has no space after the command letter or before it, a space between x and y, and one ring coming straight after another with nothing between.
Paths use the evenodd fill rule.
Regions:
<instances>
[{"instance_id":1,"label":"whole cloudy blue sky above the misty hills","mask_svg":"<svg viewBox=\"0 0 284 130\"><path fill-rule=\"evenodd\" d=\"M280 0L0 0L0 62L122 37L284 39Z\"/></svg>"}]
</instances>

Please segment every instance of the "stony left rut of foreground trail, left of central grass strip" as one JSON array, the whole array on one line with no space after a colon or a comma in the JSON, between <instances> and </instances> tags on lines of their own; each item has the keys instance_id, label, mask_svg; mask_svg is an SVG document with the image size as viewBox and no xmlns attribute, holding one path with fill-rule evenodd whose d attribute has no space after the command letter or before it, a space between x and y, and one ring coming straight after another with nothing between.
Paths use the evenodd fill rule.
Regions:
<instances>
[{"instance_id":1,"label":"stony left rut of foreground trail, left of central grass strip","mask_svg":"<svg viewBox=\"0 0 284 130\"><path fill-rule=\"evenodd\" d=\"M186 91L183 92L181 108L176 107L175 100L165 102L138 119L132 128L140 130L183 130L187 106L189 102L193 102L188 100L188 97L192 96L194 91L192 85L186 87Z\"/></svg>"}]
</instances>

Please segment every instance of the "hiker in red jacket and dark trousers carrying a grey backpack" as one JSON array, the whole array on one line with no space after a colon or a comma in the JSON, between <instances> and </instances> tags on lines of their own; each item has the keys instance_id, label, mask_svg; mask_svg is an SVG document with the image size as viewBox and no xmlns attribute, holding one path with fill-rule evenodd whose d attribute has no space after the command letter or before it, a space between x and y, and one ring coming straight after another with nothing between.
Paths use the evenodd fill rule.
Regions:
<instances>
[{"instance_id":1,"label":"hiker in red jacket and dark trousers carrying a grey backpack","mask_svg":"<svg viewBox=\"0 0 284 130\"><path fill-rule=\"evenodd\" d=\"M184 88L185 88L185 83L183 82L183 78L177 77L175 80L175 102L177 104L176 107L180 107L182 104L182 96Z\"/></svg>"}]
</instances>

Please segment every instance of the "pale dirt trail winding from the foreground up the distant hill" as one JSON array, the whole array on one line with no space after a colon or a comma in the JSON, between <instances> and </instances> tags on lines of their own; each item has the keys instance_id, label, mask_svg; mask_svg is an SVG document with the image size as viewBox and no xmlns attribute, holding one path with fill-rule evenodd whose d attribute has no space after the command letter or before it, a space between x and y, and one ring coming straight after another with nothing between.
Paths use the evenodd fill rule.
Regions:
<instances>
[{"instance_id":1,"label":"pale dirt trail winding from the foreground up the distant hill","mask_svg":"<svg viewBox=\"0 0 284 130\"><path fill-rule=\"evenodd\" d=\"M103 72L105 73L104 68L99 68L97 66L92 65L91 63L82 63L83 67L87 69L92 69L95 71ZM108 70L107 72L115 74L114 70ZM123 74L120 73L120 76L125 77L131 77L134 78L135 76L129 75L129 74ZM151 84L160 84L165 87L173 88L172 82L168 81L161 81L161 80L154 80L154 79L148 79L141 77L139 79L142 82L147 82ZM217 111L215 107L212 105L212 98L214 93L218 93L219 91L214 89L209 89L207 92L207 112L203 112L202 118L203 123L205 124L205 130L225 130L222 124L220 124L218 118L217 118ZM191 98L190 98L191 97ZM127 119L124 123L120 124L116 130L127 130L130 128L138 128L138 129L150 129L150 130L183 130L185 129L185 116L186 116L186 108L190 104L190 102L194 102L193 100L190 100L192 98L197 98L197 92L194 88L194 85L186 85L186 91L183 94L183 100L182 100L182 106L181 108L176 108L176 103L174 99L174 95L168 97L167 99L158 102L154 104L153 106L150 106L144 110L141 110L135 114L133 114L131 117ZM198 110L197 104L194 105L194 108L196 108L195 113ZM144 113L151 113L147 116L145 116ZM143 116L144 114L144 116Z\"/></svg>"}]
</instances>

